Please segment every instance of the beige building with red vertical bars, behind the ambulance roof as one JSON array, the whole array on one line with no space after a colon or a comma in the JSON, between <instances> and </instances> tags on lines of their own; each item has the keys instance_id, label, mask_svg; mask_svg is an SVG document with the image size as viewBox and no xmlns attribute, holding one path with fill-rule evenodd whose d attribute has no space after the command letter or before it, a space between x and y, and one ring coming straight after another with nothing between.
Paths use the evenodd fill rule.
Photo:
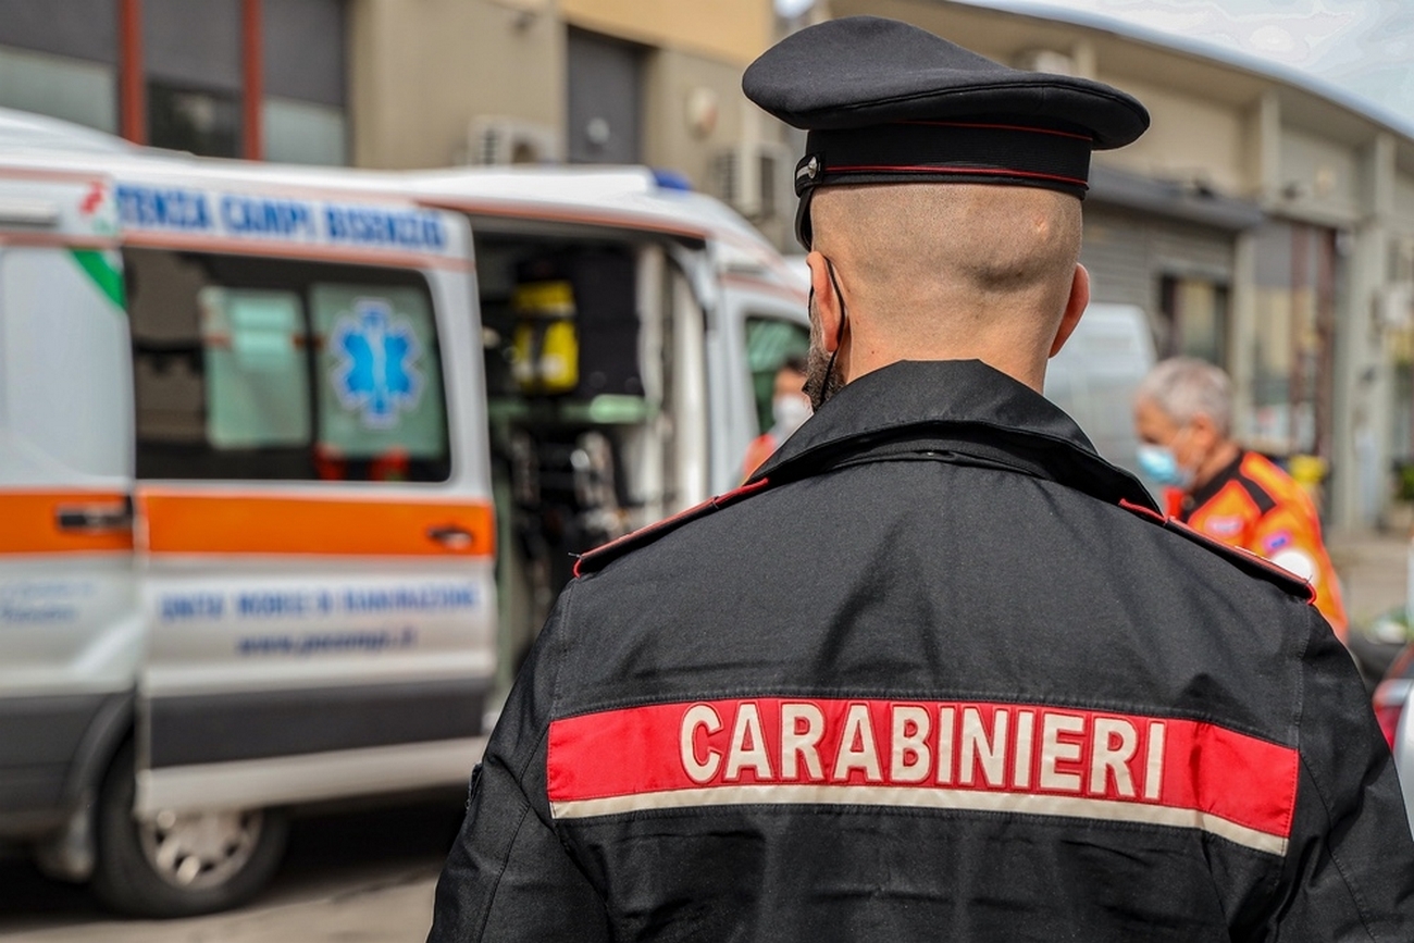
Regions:
<instances>
[{"instance_id":1,"label":"beige building with red vertical bars, behind the ambulance roof","mask_svg":"<svg viewBox=\"0 0 1414 943\"><path fill-rule=\"evenodd\" d=\"M789 239L772 0L0 0L0 106L218 157L639 163Z\"/></svg>"}]
</instances>

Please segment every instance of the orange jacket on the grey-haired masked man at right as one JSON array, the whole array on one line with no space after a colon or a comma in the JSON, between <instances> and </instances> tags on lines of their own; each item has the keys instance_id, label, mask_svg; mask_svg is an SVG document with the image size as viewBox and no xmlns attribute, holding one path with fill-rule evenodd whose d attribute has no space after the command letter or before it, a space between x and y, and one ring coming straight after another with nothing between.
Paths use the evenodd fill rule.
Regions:
<instances>
[{"instance_id":1,"label":"orange jacket on the grey-haired masked man at right","mask_svg":"<svg viewBox=\"0 0 1414 943\"><path fill-rule=\"evenodd\" d=\"M1345 602L1321 540L1321 520L1311 496L1287 472L1257 452L1243 452L1175 503L1174 516L1189 527L1309 580L1316 608L1345 639Z\"/></svg>"}]
</instances>

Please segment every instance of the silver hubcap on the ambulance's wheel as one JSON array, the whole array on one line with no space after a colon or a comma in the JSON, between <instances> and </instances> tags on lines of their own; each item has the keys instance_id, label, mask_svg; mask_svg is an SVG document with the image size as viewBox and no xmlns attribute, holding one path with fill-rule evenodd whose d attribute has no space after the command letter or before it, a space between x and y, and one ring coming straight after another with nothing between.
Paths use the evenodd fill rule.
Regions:
<instances>
[{"instance_id":1,"label":"silver hubcap on the ambulance's wheel","mask_svg":"<svg viewBox=\"0 0 1414 943\"><path fill-rule=\"evenodd\" d=\"M139 823L139 833L153 871L173 886L199 891L229 881L246 867L263 821L259 810L163 810Z\"/></svg>"}]
</instances>

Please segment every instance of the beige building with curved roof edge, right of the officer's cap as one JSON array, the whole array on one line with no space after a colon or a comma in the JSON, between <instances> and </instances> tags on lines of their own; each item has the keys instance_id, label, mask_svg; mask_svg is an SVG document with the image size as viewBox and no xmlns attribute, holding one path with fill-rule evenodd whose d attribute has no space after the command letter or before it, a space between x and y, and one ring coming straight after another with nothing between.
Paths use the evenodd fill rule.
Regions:
<instances>
[{"instance_id":1,"label":"beige building with curved roof edge, right of the officer's cap","mask_svg":"<svg viewBox=\"0 0 1414 943\"><path fill-rule=\"evenodd\" d=\"M1094 156L1082 262L1148 314L1159 356L1232 373L1237 435L1329 469L1331 526L1384 522L1414 464L1414 137L1250 65L994 0L831 0L1001 62L1135 95L1152 126Z\"/></svg>"}]
</instances>

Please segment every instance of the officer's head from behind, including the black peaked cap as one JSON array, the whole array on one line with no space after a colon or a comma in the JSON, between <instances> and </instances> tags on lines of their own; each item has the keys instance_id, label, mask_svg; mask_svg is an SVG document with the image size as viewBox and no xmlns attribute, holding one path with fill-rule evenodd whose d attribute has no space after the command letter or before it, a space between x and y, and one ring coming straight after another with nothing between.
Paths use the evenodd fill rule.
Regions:
<instances>
[{"instance_id":1,"label":"officer's head from behind, including the black peaked cap","mask_svg":"<svg viewBox=\"0 0 1414 943\"><path fill-rule=\"evenodd\" d=\"M807 131L796 236L820 253L813 287L823 334L840 338L830 356L847 344L843 382L899 359L980 359L1041 389L1089 297L1076 260L1090 154L1143 134L1144 106L878 17L792 34L742 90Z\"/></svg>"}]
</instances>

